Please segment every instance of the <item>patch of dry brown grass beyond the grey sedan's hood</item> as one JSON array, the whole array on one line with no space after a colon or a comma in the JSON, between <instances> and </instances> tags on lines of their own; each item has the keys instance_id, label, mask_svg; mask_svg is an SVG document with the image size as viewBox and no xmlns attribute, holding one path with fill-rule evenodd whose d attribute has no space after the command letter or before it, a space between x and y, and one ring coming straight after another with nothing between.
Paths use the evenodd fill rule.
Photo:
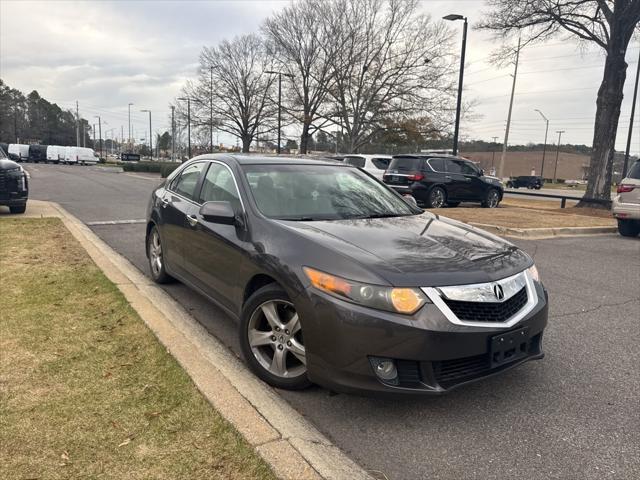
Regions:
<instances>
[{"instance_id":1,"label":"patch of dry brown grass beyond the grey sedan's hood","mask_svg":"<svg viewBox=\"0 0 640 480\"><path fill-rule=\"evenodd\" d=\"M616 222L608 211L583 208L551 208L548 205L523 205L527 200L505 200L500 208L458 207L431 209L444 217L466 223L482 223L512 228L609 227ZM531 201L532 203L546 203ZM518 205L518 206L514 206ZM592 213L589 215L589 213Z\"/></svg>"}]
</instances>

